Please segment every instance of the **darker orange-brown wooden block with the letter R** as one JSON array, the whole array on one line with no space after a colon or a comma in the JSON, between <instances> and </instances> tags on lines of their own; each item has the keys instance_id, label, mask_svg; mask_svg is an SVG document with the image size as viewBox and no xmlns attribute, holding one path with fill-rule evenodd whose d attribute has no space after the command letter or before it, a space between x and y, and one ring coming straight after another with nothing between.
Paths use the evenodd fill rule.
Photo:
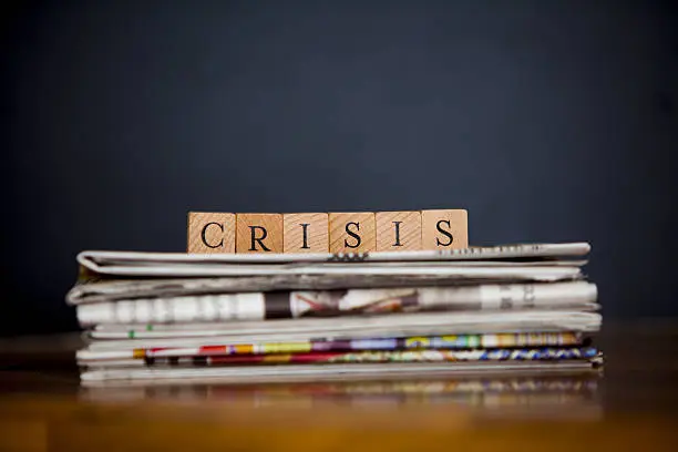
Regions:
<instances>
[{"instance_id":1,"label":"darker orange-brown wooden block with the letter R","mask_svg":"<svg viewBox=\"0 0 678 452\"><path fill-rule=\"evenodd\" d=\"M236 253L282 253L282 214L236 214Z\"/></svg>"}]
</instances>

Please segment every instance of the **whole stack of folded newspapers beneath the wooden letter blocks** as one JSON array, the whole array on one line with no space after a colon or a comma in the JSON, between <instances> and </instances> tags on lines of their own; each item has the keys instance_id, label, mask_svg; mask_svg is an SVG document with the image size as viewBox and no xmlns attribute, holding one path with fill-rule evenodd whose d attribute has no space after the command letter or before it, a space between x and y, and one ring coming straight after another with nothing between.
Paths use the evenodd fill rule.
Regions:
<instances>
[{"instance_id":1,"label":"whole stack of folded newspapers beneath the wooden letter blocks","mask_svg":"<svg viewBox=\"0 0 678 452\"><path fill-rule=\"evenodd\" d=\"M85 386L592 371L586 243L370 254L83 251Z\"/></svg>"}]
</instances>

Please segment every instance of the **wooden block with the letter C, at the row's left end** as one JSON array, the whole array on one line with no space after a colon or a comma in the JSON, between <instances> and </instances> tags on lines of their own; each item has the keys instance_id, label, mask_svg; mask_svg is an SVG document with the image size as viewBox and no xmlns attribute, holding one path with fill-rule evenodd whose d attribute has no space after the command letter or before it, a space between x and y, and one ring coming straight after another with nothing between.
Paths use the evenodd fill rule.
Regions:
<instances>
[{"instance_id":1,"label":"wooden block with the letter C, at the row's left end","mask_svg":"<svg viewBox=\"0 0 678 452\"><path fill-rule=\"evenodd\" d=\"M186 253L235 253L235 214L188 213Z\"/></svg>"}]
</instances>

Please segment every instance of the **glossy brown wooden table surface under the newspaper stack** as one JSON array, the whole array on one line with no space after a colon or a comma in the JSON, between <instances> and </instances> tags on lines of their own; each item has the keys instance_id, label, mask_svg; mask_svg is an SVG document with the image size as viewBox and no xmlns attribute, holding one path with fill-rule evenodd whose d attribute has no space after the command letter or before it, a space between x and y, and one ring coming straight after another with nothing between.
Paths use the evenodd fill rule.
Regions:
<instances>
[{"instance_id":1,"label":"glossy brown wooden table surface under the newspaper stack","mask_svg":"<svg viewBox=\"0 0 678 452\"><path fill-rule=\"evenodd\" d=\"M0 451L678 451L678 322L606 325L596 345L603 376L571 381L585 393L435 392L460 387L450 379L328 397L308 386L85 390L79 335L2 340Z\"/></svg>"}]
</instances>

